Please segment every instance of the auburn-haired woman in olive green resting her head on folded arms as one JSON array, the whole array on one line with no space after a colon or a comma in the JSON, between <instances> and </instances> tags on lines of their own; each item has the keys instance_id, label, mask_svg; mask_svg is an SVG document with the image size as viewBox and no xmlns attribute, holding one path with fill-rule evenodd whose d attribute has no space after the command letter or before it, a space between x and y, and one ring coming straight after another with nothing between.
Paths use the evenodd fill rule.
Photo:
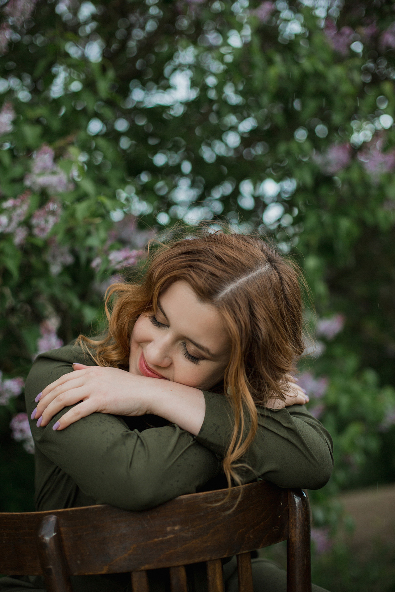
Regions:
<instances>
[{"instance_id":1,"label":"auburn-haired woman in olive green resting her head on folded arms","mask_svg":"<svg viewBox=\"0 0 395 592\"><path fill-rule=\"evenodd\" d=\"M163 246L140 284L110 289L106 311L102 339L42 354L28 376L37 510L140 510L256 477L326 483L330 436L288 379L303 352L298 276L268 244L216 233ZM285 590L274 564L256 559L254 574L257 591ZM115 592L127 579L73 585Z\"/></svg>"}]
</instances>

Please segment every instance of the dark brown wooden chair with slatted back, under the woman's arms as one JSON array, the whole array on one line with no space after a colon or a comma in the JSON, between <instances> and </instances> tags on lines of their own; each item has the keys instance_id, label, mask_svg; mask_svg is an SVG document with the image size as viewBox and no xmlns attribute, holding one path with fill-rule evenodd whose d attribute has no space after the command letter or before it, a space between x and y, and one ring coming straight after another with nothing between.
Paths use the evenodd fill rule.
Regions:
<instances>
[{"instance_id":1,"label":"dark brown wooden chair with slatted back, under the woman's arms","mask_svg":"<svg viewBox=\"0 0 395 592\"><path fill-rule=\"evenodd\" d=\"M70 575L131 572L133 592L149 592L147 570L169 568L171 592L187 592L185 565L205 561L208 592L223 592L221 558L237 555L239 592L252 592L250 552L281 540L287 591L311 592L309 501L258 481L137 512L101 505L0 514L0 573L43 574L48 592L72 592Z\"/></svg>"}]
</instances>

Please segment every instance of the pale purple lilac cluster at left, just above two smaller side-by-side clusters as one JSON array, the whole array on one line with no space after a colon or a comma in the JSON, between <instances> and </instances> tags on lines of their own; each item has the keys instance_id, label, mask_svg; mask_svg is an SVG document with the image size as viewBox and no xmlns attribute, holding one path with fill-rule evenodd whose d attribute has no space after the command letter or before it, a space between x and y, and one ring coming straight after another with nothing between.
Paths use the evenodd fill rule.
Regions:
<instances>
[{"instance_id":1,"label":"pale purple lilac cluster at left, just above two smaller side-by-side clusters","mask_svg":"<svg viewBox=\"0 0 395 592\"><path fill-rule=\"evenodd\" d=\"M32 172L25 175L24 183L34 191L47 189L50 193L71 191L74 187L66 173L53 162L54 151L47 144L33 155Z\"/></svg>"}]
</instances>

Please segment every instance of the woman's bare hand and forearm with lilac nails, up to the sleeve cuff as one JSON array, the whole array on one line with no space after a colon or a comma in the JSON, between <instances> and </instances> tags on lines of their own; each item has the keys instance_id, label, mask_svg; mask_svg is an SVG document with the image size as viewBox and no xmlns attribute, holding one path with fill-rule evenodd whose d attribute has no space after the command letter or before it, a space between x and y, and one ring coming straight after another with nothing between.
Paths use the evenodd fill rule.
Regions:
<instances>
[{"instance_id":1,"label":"woman's bare hand and forearm with lilac nails, up to the sleeve cuff","mask_svg":"<svg viewBox=\"0 0 395 592\"><path fill-rule=\"evenodd\" d=\"M64 430L91 413L123 416L155 414L195 436L205 414L203 392L160 378L130 374L118 368L73 364L73 371L37 395L31 419L45 427L63 408L75 405L53 426ZM78 404L77 404L78 403Z\"/></svg>"}]
</instances>

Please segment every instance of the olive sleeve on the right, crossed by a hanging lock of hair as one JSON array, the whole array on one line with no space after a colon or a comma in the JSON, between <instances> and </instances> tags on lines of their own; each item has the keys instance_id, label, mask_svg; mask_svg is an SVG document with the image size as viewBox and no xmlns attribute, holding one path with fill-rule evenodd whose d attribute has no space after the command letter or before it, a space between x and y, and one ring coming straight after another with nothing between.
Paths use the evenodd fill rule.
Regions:
<instances>
[{"instance_id":1,"label":"olive sleeve on the right, crossed by a hanging lock of hair","mask_svg":"<svg viewBox=\"0 0 395 592\"><path fill-rule=\"evenodd\" d=\"M226 397L204 392L206 411L198 442L223 458L232 435L232 410ZM319 489L333 469L332 439L306 407L274 411L258 407L258 430L245 456L250 470L243 482L262 477L280 487Z\"/></svg>"}]
</instances>

